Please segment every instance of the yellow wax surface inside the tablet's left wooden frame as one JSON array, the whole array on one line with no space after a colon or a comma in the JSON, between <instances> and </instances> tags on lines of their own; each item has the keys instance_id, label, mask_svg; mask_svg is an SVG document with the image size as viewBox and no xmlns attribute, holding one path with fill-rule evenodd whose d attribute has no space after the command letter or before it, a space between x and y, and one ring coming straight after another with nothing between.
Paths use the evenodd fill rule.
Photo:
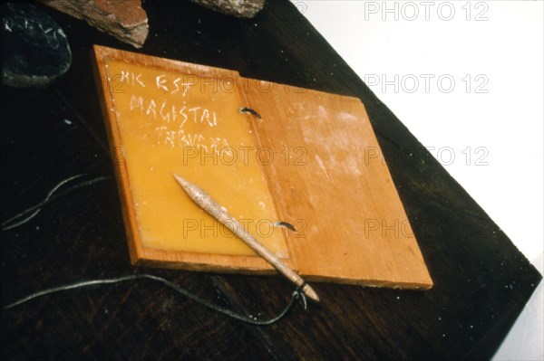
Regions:
<instances>
[{"instance_id":1,"label":"yellow wax surface inside the tablet's left wooden frame","mask_svg":"<svg viewBox=\"0 0 544 361\"><path fill-rule=\"evenodd\" d=\"M204 189L270 251L287 258L282 229L234 79L214 79L106 61L143 247L255 255L194 204L172 173Z\"/></svg>"}]
</instances>

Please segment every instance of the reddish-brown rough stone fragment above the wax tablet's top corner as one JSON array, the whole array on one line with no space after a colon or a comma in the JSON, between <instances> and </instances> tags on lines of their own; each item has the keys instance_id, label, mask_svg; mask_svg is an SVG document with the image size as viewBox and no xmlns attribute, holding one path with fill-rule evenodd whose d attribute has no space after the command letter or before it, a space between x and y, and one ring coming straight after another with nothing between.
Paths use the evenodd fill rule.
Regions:
<instances>
[{"instance_id":1,"label":"reddish-brown rough stone fragment above the wax tablet's top corner","mask_svg":"<svg viewBox=\"0 0 544 361\"><path fill-rule=\"evenodd\" d=\"M143 46L150 32L141 0L42 0L42 3L83 19L136 48Z\"/></svg>"}]
</instances>

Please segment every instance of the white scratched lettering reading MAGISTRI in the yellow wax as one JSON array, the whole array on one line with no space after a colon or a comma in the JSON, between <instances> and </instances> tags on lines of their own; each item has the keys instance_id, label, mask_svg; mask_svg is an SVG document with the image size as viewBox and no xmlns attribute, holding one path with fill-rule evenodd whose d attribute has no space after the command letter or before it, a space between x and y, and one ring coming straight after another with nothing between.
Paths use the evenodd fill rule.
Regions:
<instances>
[{"instance_id":1,"label":"white scratched lettering reading MAGISTRI in the yellow wax","mask_svg":"<svg viewBox=\"0 0 544 361\"><path fill-rule=\"evenodd\" d=\"M144 119L151 126L153 142L157 146L191 147L205 154L229 155L228 139L218 137L211 129L217 128L221 117L218 109L202 105L207 92L215 101L218 94L217 79L202 80L186 74L145 74L129 70L109 78L112 92L124 93L129 101L130 114ZM232 80L226 80L232 81Z\"/></svg>"}]
</instances>

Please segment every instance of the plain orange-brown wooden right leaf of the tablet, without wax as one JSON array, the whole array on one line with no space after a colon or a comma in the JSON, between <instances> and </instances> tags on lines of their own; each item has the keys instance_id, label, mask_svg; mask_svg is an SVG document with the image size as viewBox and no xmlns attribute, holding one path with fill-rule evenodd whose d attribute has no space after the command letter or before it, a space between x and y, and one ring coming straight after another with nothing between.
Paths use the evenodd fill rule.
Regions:
<instances>
[{"instance_id":1,"label":"plain orange-brown wooden right leaf of the tablet, without wax","mask_svg":"<svg viewBox=\"0 0 544 361\"><path fill-rule=\"evenodd\" d=\"M248 100L262 116L256 122L261 147L278 150L267 176L280 216L305 226L304 234L288 239L300 274L306 280L430 288L361 100L256 80L249 81Z\"/></svg>"}]
</instances>

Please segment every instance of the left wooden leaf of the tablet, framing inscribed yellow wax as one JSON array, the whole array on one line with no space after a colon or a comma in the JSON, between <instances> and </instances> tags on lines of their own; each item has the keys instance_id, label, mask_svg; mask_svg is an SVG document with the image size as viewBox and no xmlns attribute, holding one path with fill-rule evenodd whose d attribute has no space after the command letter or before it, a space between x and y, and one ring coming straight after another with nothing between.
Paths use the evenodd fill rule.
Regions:
<instances>
[{"instance_id":1,"label":"left wooden leaf of the tablet, framing inscribed yellow wax","mask_svg":"<svg viewBox=\"0 0 544 361\"><path fill-rule=\"evenodd\" d=\"M272 271L194 204L178 173L212 195L249 233L288 260L257 162L238 74L95 47L131 260L202 271Z\"/></svg>"}]
</instances>

